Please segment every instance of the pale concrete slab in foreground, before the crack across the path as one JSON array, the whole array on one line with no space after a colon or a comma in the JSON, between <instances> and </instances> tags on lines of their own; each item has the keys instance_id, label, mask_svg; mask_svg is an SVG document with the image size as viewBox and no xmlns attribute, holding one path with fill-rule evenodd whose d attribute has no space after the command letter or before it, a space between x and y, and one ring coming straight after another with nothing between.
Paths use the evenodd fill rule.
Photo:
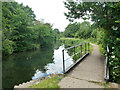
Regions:
<instances>
[{"instance_id":1,"label":"pale concrete slab in foreground, before the crack across the path","mask_svg":"<svg viewBox=\"0 0 120 90\"><path fill-rule=\"evenodd\" d=\"M80 80L72 77L65 77L59 83L61 88L104 88L98 83L91 83L86 80Z\"/></svg>"}]
</instances>

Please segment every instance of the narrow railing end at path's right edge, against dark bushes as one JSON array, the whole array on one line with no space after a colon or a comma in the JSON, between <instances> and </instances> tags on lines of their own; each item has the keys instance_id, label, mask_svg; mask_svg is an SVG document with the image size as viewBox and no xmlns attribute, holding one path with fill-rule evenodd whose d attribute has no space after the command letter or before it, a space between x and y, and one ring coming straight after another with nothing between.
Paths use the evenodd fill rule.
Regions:
<instances>
[{"instance_id":1,"label":"narrow railing end at path's right edge, against dark bushes","mask_svg":"<svg viewBox=\"0 0 120 90\"><path fill-rule=\"evenodd\" d=\"M107 45L107 55L105 58L105 71L104 71L104 79L106 82L109 80L109 47Z\"/></svg>"}]
</instances>

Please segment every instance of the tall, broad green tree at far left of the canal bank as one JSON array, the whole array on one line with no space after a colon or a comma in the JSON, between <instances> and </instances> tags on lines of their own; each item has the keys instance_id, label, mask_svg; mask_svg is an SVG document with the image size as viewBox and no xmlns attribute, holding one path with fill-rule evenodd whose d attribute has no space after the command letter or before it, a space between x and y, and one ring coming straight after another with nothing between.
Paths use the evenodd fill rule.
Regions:
<instances>
[{"instance_id":1,"label":"tall, broad green tree at far left of the canal bank","mask_svg":"<svg viewBox=\"0 0 120 90\"><path fill-rule=\"evenodd\" d=\"M2 28L3 28L3 53L7 54L9 49L13 51L24 51L31 48L32 34L31 26L35 15L31 8L24 7L17 2L3 2L2 5ZM10 43L10 44L8 44ZM7 44L8 48L5 44ZM10 50L11 49L11 50Z\"/></svg>"}]
</instances>

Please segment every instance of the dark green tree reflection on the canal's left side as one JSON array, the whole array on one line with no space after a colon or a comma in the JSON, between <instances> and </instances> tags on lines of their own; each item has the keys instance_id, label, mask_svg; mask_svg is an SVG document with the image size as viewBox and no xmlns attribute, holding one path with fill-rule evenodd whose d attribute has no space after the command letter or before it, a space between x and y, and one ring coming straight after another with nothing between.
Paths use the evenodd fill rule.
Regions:
<instances>
[{"instance_id":1,"label":"dark green tree reflection on the canal's left side","mask_svg":"<svg viewBox=\"0 0 120 90\"><path fill-rule=\"evenodd\" d=\"M53 62L53 52L53 48L43 48L3 57L3 87L10 88L31 80L36 70L40 70L43 73L46 72L44 66Z\"/></svg>"}]
</instances>

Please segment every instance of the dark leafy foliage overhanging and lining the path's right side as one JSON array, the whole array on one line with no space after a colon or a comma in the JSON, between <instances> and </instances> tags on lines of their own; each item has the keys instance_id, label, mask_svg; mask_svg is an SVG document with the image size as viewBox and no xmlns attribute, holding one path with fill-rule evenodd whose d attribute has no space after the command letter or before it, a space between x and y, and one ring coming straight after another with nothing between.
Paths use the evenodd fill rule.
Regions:
<instances>
[{"instance_id":1,"label":"dark leafy foliage overhanging and lining the path's right side","mask_svg":"<svg viewBox=\"0 0 120 90\"><path fill-rule=\"evenodd\" d=\"M92 19L98 26L103 28L103 37L100 37L100 44L106 49L109 45L110 51L114 52L115 58L111 59L109 65L111 72L111 81L120 83L120 2L64 2L68 12L65 16L70 21L77 18ZM94 33L92 33L95 37ZM111 49L114 47L115 50ZM114 69L115 66L118 66ZM113 72L115 74L113 74Z\"/></svg>"}]
</instances>

